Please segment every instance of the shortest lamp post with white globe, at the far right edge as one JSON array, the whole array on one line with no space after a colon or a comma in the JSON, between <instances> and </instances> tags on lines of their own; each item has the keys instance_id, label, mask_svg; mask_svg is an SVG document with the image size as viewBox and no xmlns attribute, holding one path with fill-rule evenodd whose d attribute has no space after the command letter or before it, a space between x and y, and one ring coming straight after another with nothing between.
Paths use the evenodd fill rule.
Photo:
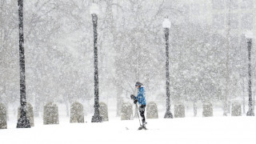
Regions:
<instances>
[{"instance_id":1,"label":"shortest lamp post with white globe, at the far right edge","mask_svg":"<svg viewBox=\"0 0 256 144\"><path fill-rule=\"evenodd\" d=\"M249 93L249 110L247 112L247 116L254 116L254 110L253 110L253 98L252 98L252 90L251 90L251 59L250 59L250 54L251 54L251 46L252 46L252 39L254 38L254 35L251 31L247 31L246 34L246 42L247 42L247 48L248 48L248 93Z\"/></svg>"}]
</instances>

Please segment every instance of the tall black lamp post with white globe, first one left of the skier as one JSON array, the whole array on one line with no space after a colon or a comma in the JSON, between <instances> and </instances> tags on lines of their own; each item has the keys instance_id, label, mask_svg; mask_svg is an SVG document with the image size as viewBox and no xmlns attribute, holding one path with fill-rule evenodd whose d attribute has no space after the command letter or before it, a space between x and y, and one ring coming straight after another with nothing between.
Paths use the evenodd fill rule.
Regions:
<instances>
[{"instance_id":1,"label":"tall black lamp post with white globe, first one left of the skier","mask_svg":"<svg viewBox=\"0 0 256 144\"><path fill-rule=\"evenodd\" d=\"M93 18L94 26L94 116L91 122L102 122L102 117L99 114L99 98L98 98L98 49L97 49L97 25L99 9L96 3L90 6L90 14Z\"/></svg>"}]
</instances>

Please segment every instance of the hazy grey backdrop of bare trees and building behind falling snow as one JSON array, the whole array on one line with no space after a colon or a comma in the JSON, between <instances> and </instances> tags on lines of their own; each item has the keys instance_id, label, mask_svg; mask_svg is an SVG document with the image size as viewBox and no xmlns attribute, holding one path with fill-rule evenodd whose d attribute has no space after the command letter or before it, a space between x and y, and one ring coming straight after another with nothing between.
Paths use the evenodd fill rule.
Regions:
<instances>
[{"instance_id":1,"label":"hazy grey backdrop of bare trees and building behind falling snow","mask_svg":"<svg viewBox=\"0 0 256 144\"><path fill-rule=\"evenodd\" d=\"M163 19L170 28L171 103L248 101L244 32L255 34L255 0L98 0L99 96L130 102L135 82L147 102L166 105ZM24 1L26 98L35 116L47 102L93 109L91 0ZM254 45L254 44L253 44ZM255 91L255 50L252 88ZM18 2L0 2L0 102L19 106ZM118 107L120 105L117 105ZM118 113L117 113L118 114Z\"/></svg>"}]
</instances>

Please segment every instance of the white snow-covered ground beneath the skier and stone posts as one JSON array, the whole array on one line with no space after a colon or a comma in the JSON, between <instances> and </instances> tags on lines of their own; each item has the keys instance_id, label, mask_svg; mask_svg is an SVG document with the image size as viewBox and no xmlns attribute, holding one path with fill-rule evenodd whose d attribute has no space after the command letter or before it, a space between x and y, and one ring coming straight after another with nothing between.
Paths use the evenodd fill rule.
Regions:
<instances>
[{"instance_id":1,"label":"white snow-covered ground beneath the skier and stone posts","mask_svg":"<svg viewBox=\"0 0 256 144\"><path fill-rule=\"evenodd\" d=\"M188 114L189 113L189 114ZM186 118L148 119L149 130L138 130L138 118L121 121L114 111L110 121L91 123L91 115L86 115L86 123L70 124L64 111L60 111L59 125L42 125L42 118L35 118L31 129L16 129L16 119L9 118L8 129L0 130L1 144L93 144L93 143L171 143L171 144L255 144L256 118L222 117L222 110L215 110L214 117L193 117L192 111Z\"/></svg>"}]
</instances>

